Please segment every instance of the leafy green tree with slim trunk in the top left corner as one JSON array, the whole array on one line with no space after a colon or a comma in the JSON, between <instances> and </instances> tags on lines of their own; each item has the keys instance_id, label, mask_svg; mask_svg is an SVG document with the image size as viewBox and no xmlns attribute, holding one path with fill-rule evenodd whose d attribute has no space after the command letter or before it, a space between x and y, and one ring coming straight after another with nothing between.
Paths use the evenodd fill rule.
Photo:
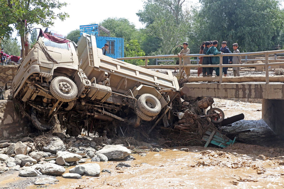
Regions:
<instances>
[{"instance_id":1,"label":"leafy green tree with slim trunk in the top left corner","mask_svg":"<svg viewBox=\"0 0 284 189\"><path fill-rule=\"evenodd\" d=\"M65 12L56 14L55 9L60 9L67 5L58 0L1 0L5 4L7 17L1 17L4 23L14 24L15 29L18 30L18 35L21 38L22 56L24 58L24 44L25 44L25 20L27 20L26 31L32 28L32 24L40 24L43 27L50 27L54 24L53 20L59 18L64 20L69 15ZM11 23L12 22L12 23ZM6 25L5 25L6 26ZM5 27L6 30L7 27Z\"/></svg>"}]
</instances>

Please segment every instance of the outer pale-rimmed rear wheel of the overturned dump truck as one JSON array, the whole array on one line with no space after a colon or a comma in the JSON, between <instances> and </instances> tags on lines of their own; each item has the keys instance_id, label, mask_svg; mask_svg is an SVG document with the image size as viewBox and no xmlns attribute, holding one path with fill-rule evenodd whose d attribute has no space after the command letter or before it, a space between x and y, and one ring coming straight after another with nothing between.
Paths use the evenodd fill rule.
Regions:
<instances>
[{"instance_id":1,"label":"outer pale-rimmed rear wheel of the overturned dump truck","mask_svg":"<svg viewBox=\"0 0 284 189\"><path fill-rule=\"evenodd\" d=\"M160 101L151 94L143 94L138 98L138 108L148 116L156 116L160 113L162 106Z\"/></svg>"}]
</instances>

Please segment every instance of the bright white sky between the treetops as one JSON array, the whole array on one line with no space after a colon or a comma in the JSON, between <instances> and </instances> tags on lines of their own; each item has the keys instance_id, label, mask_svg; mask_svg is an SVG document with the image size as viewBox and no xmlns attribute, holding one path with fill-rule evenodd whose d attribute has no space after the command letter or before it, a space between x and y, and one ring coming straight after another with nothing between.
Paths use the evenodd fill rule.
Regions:
<instances>
[{"instance_id":1,"label":"bright white sky between the treetops","mask_svg":"<svg viewBox=\"0 0 284 189\"><path fill-rule=\"evenodd\" d=\"M72 30L79 29L80 25L99 24L109 17L127 18L137 29L144 27L135 14L143 10L141 0L65 0L65 2L68 5L59 11L67 12L70 17L63 22L55 20L52 27L65 35Z\"/></svg>"}]
</instances>

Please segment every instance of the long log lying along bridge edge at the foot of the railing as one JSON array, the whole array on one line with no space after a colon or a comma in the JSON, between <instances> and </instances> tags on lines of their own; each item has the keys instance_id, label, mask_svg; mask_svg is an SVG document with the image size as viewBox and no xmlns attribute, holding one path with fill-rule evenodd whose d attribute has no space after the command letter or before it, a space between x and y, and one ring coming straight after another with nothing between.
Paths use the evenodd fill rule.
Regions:
<instances>
[{"instance_id":1,"label":"long log lying along bridge edge at the foot of the railing","mask_svg":"<svg viewBox=\"0 0 284 189\"><path fill-rule=\"evenodd\" d=\"M219 76L210 77L187 77L187 82L199 82L199 81L219 81ZM222 77L223 82L265 82L265 76L240 76L240 77ZM283 75L269 76L269 82L284 82Z\"/></svg>"}]
</instances>

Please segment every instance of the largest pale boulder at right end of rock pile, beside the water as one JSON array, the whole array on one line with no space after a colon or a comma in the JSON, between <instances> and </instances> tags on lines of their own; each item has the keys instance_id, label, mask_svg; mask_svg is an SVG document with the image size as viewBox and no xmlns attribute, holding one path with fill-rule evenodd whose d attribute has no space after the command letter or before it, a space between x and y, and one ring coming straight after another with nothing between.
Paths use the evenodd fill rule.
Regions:
<instances>
[{"instance_id":1,"label":"largest pale boulder at right end of rock pile, beside the water","mask_svg":"<svg viewBox=\"0 0 284 189\"><path fill-rule=\"evenodd\" d=\"M131 151L122 145L106 145L95 154L104 154L108 160L121 160L131 154Z\"/></svg>"}]
</instances>

